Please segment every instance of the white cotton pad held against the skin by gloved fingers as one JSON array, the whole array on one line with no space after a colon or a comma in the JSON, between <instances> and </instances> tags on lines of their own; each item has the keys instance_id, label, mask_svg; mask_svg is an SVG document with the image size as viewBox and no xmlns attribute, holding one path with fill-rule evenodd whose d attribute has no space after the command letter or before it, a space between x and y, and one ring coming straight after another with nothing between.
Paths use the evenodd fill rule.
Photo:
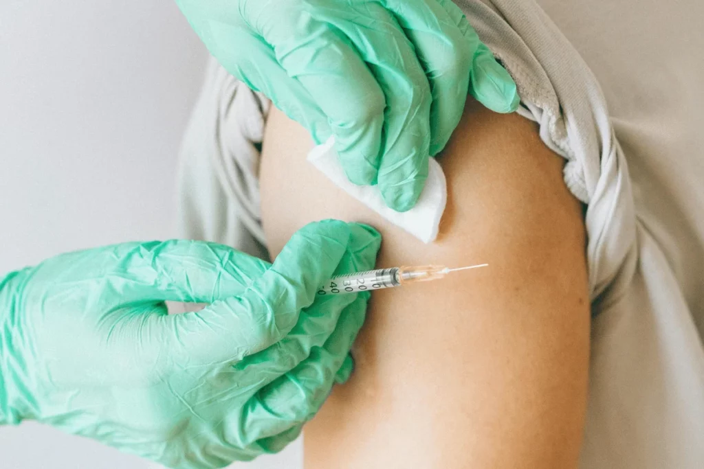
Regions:
<instances>
[{"instance_id":1,"label":"white cotton pad held against the skin by gloved fingers","mask_svg":"<svg viewBox=\"0 0 704 469\"><path fill-rule=\"evenodd\" d=\"M431 243L437 238L440 219L447 203L447 183L442 168L434 158L429 158L428 179L418 202L403 213L386 207L377 186L356 186L347 179L334 149L333 139L310 150L308 161L343 191L423 243Z\"/></svg>"}]
</instances>

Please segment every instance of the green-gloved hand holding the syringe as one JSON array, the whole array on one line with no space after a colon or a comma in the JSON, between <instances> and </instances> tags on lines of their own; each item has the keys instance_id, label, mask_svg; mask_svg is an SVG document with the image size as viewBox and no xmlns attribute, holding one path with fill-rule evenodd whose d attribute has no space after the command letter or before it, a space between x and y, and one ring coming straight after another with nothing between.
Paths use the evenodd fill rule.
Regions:
<instances>
[{"instance_id":1,"label":"green-gloved hand holding the syringe","mask_svg":"<svg viewBox=\"0 0 704 469\"><path fill-rule=\"evenodd\" d=\"M0 279L0 422L32 419L171 468L279 451L351 373L379 234L309 224L270 265L196 241L74 252ZM163 300L208 302L168 315Z\"/></svg>"}]
</instances>

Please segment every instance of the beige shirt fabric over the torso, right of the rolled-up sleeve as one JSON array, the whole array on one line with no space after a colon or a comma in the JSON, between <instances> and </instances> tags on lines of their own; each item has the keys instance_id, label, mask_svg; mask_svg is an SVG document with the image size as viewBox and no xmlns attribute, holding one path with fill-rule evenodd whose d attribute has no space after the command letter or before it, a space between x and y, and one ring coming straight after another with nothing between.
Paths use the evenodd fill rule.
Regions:
<instances>
[{"instance_id":1,"label":"beige shirt fabric over the torso, right of the rolled-up sleeve","mask_svg":"<svg viewBox=\"0 0 704 469\"><path fill-rule=\"evenodd\" d=\"M594 321L583 466L701 467L704 2L538 3L601 85L642 233L629 305Z\"/></svg>"}]
</instances>

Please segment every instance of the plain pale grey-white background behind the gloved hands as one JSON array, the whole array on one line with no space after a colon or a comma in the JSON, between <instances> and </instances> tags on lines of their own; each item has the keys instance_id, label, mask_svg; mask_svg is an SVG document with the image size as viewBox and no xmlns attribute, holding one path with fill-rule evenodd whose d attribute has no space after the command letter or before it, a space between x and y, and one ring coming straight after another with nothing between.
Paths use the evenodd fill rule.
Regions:
<instances>
[{"instance_id":1,"label":"plain pale grey-white background behind the gloved hands","mask_svg":"<svg viewBox=\"0 0 704 469\"><path fill-rule=\"evenodd\" d=\"M169 0L0 1L0 272L176 235L176 155L205 60ZM237 467L300 458L296 445ZM0 428L0 466L150 467L34 423Z\"/></svg>"}]
</instances>

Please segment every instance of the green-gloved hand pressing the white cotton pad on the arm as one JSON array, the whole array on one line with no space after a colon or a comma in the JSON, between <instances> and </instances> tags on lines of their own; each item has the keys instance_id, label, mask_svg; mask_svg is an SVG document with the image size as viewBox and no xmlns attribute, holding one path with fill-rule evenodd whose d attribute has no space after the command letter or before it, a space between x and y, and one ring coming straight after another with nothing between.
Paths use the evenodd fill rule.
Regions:
<instances>
[{"instance_id":1,"label":"green-gloved hand pressing the white cotton pad on the arm","mask_svg":"<svg viewBox=\"0 0 704 469\"><path fill-rule=\"evenodd\" d=\"M499 113L519 98L508 72L451 0L176 0L234 77L335 137L355 184L410 210L428 157L460 122L467 87Z\"/></svg>"}]
</instances>

